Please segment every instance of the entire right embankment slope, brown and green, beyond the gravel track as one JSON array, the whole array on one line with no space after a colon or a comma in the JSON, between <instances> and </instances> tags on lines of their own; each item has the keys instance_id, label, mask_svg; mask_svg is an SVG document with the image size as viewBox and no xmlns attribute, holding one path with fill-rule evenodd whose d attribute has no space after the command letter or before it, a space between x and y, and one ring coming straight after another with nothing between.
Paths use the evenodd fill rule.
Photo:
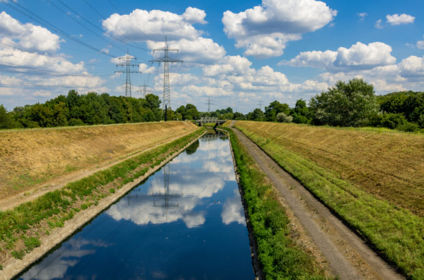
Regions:
<instances>
[{"instance_id":1,"label":"entire right embankment slope, brown and green, beyond the gravel track","mask_svg":"<svg viewBox=\"0 0 424 280\"><path fill-rule=\"evenodd\" d=\"M404 275L424 279L423 135L236 126Z\"/></svg>"}]
</instances>

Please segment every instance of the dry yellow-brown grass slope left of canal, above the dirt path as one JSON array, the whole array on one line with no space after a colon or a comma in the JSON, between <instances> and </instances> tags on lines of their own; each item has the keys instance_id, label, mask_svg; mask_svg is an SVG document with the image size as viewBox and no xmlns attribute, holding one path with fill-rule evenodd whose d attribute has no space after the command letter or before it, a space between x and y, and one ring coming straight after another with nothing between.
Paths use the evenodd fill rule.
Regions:
<instances>
[{"instance_id":1,"label":"dry yellow-brown grass slope left of canal, above the dirt path","mask_svg":"<svg viewBox=\"0 0 424 280\"><path fill-rule=\"evenodd\" d=\"M196 129L191 122L149 122L1 131L0 196L107 165Z\"/></svg>"}]
</instances>

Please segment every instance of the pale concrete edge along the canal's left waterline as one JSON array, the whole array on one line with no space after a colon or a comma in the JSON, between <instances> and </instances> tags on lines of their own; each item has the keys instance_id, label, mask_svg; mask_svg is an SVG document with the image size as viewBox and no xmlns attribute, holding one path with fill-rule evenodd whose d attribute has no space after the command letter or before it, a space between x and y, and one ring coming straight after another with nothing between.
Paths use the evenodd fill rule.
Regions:
<instances>
[{"instance_id":1,"label":"pale concrete edge along the canal's left waterline","mask_svg":"<svg viewBox=\"0 0 424 280\"><path fill-rule=\"evenodd\" d=\"M96 218L96 216L98 216L98 214L101 214L101 212L109 208L111 204L114 204L114 202L118 201L118 199L129 193L129 191L131 191L135 186L140 184L140 182L142 182L150 175L155 173L157 170L159 170L161 167L163 167L163 165L172 160L172 158L178 156L178 154L188 148L189 145L191 145L195 141L198 141L198 139L206 133L207 131L204 131L201 135L196 137L196 139L187 143L187 145L185 145L183 148L181 148L171 156L168 156L168 158L165 158L165 160L163 160L160 165L149 169L144 174L144 176L141 176L137 178L137 180L124 184L124 186L122 186L121 188L116 189L116 193L105 197L104 199L101 199L100 201L98 201L98 204L96 206L90 206L90 208L86 210L77 212L72 219L66 221L64 227L56 228L54 231L51 232L49 236L47 236L47 238L43 238L41 240L42 242L40 247L36 247L33 251L27 253L22 260L11 258L10 260L6 261L3 264L3 270L0 270L0 279L12 279L19 275L26 268L31 266L31 264L34 264L34 262L40 260L42 257L44 257L44 255L50 253L52 249L55 249L55 247L57 247L64 240L66 240L66 238L72 236L72 234L74 234L78 229L90 223L94 218Z\"/></svg>"}]
</instances>

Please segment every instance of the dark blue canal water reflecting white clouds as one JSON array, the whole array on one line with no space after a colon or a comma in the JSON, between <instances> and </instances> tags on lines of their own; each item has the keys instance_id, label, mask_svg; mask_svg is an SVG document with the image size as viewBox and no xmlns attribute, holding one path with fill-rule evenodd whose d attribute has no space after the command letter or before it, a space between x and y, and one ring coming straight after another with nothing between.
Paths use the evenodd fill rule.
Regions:
<instances>
[{"instance_id":1,"label":"dark blue canal water reflecting white clouds","mask_svg":"<svg viewBox=\"0 0 424 280\"><path fill-rule=\"evenodd\" d=\"M254 279L226 137L202 137L21 279Z\"/></svg>"}]
</instances>

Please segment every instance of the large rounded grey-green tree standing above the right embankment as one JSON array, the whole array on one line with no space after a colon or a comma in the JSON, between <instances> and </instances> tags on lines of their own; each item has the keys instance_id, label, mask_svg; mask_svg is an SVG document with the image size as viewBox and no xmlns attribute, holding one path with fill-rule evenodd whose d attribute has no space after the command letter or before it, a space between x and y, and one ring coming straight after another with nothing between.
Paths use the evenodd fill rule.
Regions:
<instances>
[{"instance_id":1,"label":"large rounded grey-green tree standing above the right embankment","mask_svg":"<svg viewBox=\"0 0 424 280\"><path fill-rule=\"evenodd\" d=\"M377 113L373 85L362 79L349 83L339 81L328 92L322 92L310 100L314 124L330 126L365 126Z\"/></svg>"}]
</instances>

